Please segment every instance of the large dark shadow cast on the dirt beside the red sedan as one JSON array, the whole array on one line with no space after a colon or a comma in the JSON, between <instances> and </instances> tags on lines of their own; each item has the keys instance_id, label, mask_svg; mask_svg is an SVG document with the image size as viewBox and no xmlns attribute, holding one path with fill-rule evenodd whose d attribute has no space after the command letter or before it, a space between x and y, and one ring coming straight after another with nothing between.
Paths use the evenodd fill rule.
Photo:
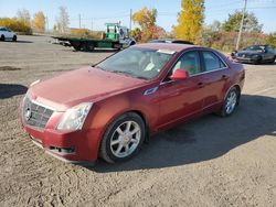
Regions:
<instances>
[{"instance_id":1,"label":"large dark shadow cast on the dirt beside the red sedan","mask_svg":"<svg viewBox=\"0 0 276 207\"><path fill-rule=\"evenodd\" d=\"M243 95L241 105L229 118L204 116L151 138L131 160L114 165L98 161L87 168L120 172L161 168L199 163L223 156L231 150L263 135L276 138L276 99Z\"/></svg>"}]
</instances>

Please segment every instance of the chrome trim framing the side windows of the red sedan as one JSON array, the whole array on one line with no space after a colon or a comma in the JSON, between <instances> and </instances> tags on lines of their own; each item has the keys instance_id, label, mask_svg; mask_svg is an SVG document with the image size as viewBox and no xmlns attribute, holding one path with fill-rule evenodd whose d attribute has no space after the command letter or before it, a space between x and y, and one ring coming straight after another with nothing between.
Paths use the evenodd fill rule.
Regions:
<instances>
[{"instance_id":1,"label":"chrome trim framing the side windows of the red sedan","mask_svg":"<svg viewBox=\"0 0 276 207\"><path fill-rule=\"evenodd\" d=\"M213 53L215 56L219 57L219 59L220 59L224 65L226 65L226 67L221 67L221 68L213 69L213 70L209 70L209 72L201 72L201 73L199 73L199 74L193 74L193 75L191 75L191 76L189 76L189 77L194 77L194 76L204 75L204 74L209 74L209 73L212 73L212 72L217 72L217 70L222 70L222 69L227 69L227 68L230 68L229 65L225 63L225 61L222 59L221 56L216 54L216 52L209 51L209 50L206 50L206 48L201 48L201 50L199 50L199 48L193 48L193 50L190 50L190 51L187 51L187 52L182 53L182 54L177 58L177 61L173 63L173 65L171 66L171 68L170 68L170 69L168 70L168 73L166 74L166 77L168 76L168 74L170 73L170 70L174 67L174 65L178 63L178 61L179 61L185 53L194 52L194 51L198 52L198 53L200 53L200 52L210 52L210 53ZM204 59L203 59L203 61L204 61ZM164 78L166 78L166 77L164 77ZM163 78L163 79L161 80L161 83L159 84L160 86L161 86L161 85L164 85L164 84L170 84L170 83L176 81L176 80L168 80L168 81L164 81L164 78Z\"/></svg>"}]
</instances>

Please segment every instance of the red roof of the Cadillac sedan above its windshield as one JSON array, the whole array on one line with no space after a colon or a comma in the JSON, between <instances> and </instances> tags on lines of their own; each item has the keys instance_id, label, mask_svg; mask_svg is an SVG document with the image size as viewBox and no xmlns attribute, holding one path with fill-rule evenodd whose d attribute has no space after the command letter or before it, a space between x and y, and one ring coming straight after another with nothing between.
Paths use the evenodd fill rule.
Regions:
<instances>
[{"instance_id":1,"label":"red roof of the Cadillac sedan above its windshield","mask_svg":"<svg viewBox=\"0 0 276 207\"><path fill-rule=\"evenodd\" d=\"M134 47L181 52L185 48L199 47L199 46L191 45L191 44L179 44L179 43L170 43L170 44L168 44L168 43L144 43L144 44L136 44L136 45L134 45Z\"/></svg>"}]
</instances>

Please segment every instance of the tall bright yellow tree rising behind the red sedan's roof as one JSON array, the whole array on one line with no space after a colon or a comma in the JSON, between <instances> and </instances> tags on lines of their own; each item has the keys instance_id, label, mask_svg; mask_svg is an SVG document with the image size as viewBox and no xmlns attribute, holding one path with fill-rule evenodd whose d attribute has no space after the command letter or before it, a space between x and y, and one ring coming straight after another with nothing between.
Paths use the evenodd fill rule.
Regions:
<instances>
[{"instance_id":1,"label":"tall bright yellow tree rising behind the red sedan's roof","mask_svg":"<svg viewBox=\"0 0 276 207\"><path fill-rule=\"evenodd\" d=\"M178 25L173 26L177 39L199 42L204 21L204 0L182 0Z\"/></svg>"}]
</instances>

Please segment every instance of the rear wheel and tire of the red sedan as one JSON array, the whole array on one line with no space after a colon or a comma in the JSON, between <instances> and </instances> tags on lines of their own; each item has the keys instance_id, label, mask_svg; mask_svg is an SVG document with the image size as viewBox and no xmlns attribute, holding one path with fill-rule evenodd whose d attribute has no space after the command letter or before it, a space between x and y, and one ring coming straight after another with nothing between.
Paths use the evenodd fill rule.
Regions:
<instances>
[{"instance_id":1,"label":"rear wheel and tire of the red sedan","mask_svg":"<svg viewBox=\"0 0 276 207\"><path fill-rule=\"evenodd\" d=\"M240 102L240 91L236 89L236 87L233 87L229 90L227 95L224 98L222 109L220 111L220 115L222 117L229 117L231 116Z\"/></svg>"}]
</instances>

